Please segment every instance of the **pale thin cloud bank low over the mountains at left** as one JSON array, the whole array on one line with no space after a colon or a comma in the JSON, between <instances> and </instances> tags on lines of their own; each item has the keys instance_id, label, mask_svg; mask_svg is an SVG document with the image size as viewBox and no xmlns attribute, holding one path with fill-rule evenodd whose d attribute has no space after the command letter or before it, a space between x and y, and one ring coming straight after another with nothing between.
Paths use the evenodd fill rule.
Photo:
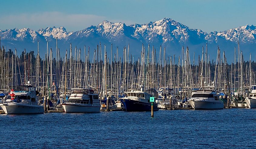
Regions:
<instances>
[{"instance_id":1,"label":"pale thin cloud bank low over the mountains at left","mask_svg":"<svg viewBox=\"0 0 256 149\"><path fill-rule=\"evenodd\" d=\"M78 31L91 25L97 25L103 20L104 16L90 14L65 14L62 12L43 12L34 14L18 14L0 16L2 30L13 28L31 28L38 30L52 26L64 26L67 31Z\"/></svg>"}]
</instances>

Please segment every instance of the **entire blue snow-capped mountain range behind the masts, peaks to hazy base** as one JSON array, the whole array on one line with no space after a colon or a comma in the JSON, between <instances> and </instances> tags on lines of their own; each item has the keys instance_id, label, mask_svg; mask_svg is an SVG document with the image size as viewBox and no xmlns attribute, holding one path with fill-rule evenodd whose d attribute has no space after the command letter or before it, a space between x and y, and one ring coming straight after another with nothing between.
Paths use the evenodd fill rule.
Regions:
<instances>
[{"instance_id":1,"label":"entire blue snow-capped mountain range behind the masts, peaks to hazy base","mask_svg":"<svg viewBox=\"0 0 256 149\"><path fill-rule=\"evenodd\" d=\"M219 45L221 49L231 51L238 41L241 46L248 48L248 50L244 49L245 53L246 51L248 53L256 45L255 34L256 27L253 25L208 34L198 29L191 29L170 18L129 26L121 22L103 21L97 26L90 26L75 32L67 32L64 27L41 28L38 31L29 28L0 30L1 45L6 45L8 49L35 50L36 42L39 40L40 48L44 50L46 40L50 47L56 47L55 40L58 38L58 47L61 50L69 49L69 43L77 47L86 45L95 48L101 42L106 46L113 44L118 47L130 44L131 53L137 54L139 54L142 43L155 45L156 48L160 45L165 46L169 54L180 54L182 46L189 46L197 54L201 53L201 46L206 43L208 43L208 48L216 49ZM212 51L212 54L216 53L215 50Z\"/></svg>"}]
</instances>

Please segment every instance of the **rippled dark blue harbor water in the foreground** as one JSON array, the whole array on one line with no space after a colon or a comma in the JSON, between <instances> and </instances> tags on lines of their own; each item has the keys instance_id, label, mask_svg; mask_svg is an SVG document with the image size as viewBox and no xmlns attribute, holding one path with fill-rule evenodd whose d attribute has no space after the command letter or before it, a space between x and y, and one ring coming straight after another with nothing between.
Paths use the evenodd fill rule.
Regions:
<instances>
[{"instance_id":1,"label":"rippled dark blue harbor water in the foreground","mask_svg":"<svg viewBox=\"0 0 256 149\"><path fill-rule=\"evenodd\" d=\"M255 148L256 109L0 115L0 148Z\"/></svg>"}]
</instances>

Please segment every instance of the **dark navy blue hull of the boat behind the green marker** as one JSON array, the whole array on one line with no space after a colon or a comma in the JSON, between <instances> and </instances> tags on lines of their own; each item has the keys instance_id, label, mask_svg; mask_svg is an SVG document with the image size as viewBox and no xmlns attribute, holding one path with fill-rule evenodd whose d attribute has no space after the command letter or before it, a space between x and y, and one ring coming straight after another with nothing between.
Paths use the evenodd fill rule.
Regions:
<instances>
[{"instance_id":1,"label":"dark navy blue hull of the boat behind the green marker","mask_svg":"<svg viewBox=\"0 0 256 149\"><path fill-rule=\"evenodd\" d=\"M140 102L137 100L131 99L121 99L121 102L124 105L125 111L135 112L135 111L151 111L151 103ZM158 111L157 104L154 103L154 111Z\"/></svg>"}]
</instances>

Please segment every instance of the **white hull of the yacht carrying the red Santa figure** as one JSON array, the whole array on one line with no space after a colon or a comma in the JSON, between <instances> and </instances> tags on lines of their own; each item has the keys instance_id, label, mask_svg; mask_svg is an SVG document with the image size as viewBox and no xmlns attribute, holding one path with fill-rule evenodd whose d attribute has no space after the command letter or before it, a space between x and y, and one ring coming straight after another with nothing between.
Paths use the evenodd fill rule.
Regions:
<instances>
[{"instance_id":1,"label":"white hull of the yacht carrying the red Santa figure","mask_svg":"<svg viewBox=\"0 0 256 149\"><path fill-rule=\"evenodd\" d=\"M36 114L44 113L44 106L41 105L0 105L5 114Z\"/></svg>"}]
</instances>

